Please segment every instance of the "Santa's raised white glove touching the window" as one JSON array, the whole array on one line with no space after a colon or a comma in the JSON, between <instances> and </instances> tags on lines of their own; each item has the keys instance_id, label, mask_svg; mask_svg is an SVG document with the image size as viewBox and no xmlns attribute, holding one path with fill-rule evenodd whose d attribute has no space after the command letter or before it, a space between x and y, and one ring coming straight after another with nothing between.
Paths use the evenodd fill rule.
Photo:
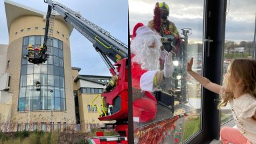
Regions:
<instances>
[{"instance_id":1,"label":"Santa's raised white glove touching the window","mask_svg":"<svg viewBox=\"0 0 256 144\"><path fill-rule=\"evenodd\" d=\"M163 76L165 78L171 77L173 75L173 55L168 53L165 57L165 64L163 66Z\"/></svg>"}]
</instances>

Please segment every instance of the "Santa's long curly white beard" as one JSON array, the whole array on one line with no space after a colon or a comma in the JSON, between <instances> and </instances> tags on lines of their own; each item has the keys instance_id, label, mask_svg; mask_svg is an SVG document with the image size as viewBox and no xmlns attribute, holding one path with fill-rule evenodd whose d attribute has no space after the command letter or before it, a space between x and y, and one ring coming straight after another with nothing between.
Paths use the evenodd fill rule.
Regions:
<instances>
[{"instance_id":1,"label":"Santa's long curly white beard","mask_svg":"<svg viewBox=\"0 0 256 144\"><path fill-rule=\"evenodd\" d=\"M155 43L155 48L149 48L152 43ZM141 69L159 70L160 47L159 35L135 37L131 42L131 53L135 55L131 62L141 65Z\"/></svg>"}]
</instances>

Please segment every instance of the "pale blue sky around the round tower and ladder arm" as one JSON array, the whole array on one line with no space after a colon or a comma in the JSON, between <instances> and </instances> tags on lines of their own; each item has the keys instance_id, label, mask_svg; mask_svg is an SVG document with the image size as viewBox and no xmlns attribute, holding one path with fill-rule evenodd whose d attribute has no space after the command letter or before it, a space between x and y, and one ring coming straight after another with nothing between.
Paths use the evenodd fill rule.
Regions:
<instances>
[{"instance_id":1,"label":"pale blue sky around the round tower and ladder arm","mask_svg":"<svg viewBox=\"0 0 256 144\"><path fill-rule=\"evenodd\" d=\"M4 1L0 0L0 44L8 44L8 30L5 15ZM47 3L43 0L11 0L15 3L47 11ZM128 45L128 1L116 0L58 0L73 11L79 11L81 15L99 27L108 31L113 37ZM109 69L95 51L92 43L73 29L70 37L72 67L80 67L82 75L111 75Z\"/></svg>"}]
</instances>

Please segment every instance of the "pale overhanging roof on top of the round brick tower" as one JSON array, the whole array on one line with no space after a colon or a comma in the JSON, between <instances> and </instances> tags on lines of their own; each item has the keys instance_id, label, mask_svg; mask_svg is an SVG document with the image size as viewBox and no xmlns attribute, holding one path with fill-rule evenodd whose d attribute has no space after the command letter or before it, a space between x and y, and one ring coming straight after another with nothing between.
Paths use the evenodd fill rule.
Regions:
<instances>
[{"instance_id":1,"label":"pale overhanging roof on top of the round brick tower","mask_svg":"<svg viewBox=\"0 0 256 144\"><path fill-rule=\"evenodd\" d=\"M43 3L42 1L42 5L45 4L47 5L47 3ZM6 14L6 19L7 19L7 26L8 26L8 33L10 32L10 26L11 26L11 22L15 19L17 19L18 17L21 17L23 15L36 15L39 17L43 17L45 15L47 15L47 9L45 9L45 12L43 11L38 11L37 9L33 9L31 7L27 7L25 5L21 5L19 3L15 3L13 1L9 1L9 0L5 0L5 14ZM63 17L61 15L59 15L58 13L56 13L55 19L59 19L61 21L65 22L65 19L63 19ZM69 27L69 33L71 34L71 32L73 31L73 27L69 24L66 23L67 27Z\"/></svg>"}]
</instances>

